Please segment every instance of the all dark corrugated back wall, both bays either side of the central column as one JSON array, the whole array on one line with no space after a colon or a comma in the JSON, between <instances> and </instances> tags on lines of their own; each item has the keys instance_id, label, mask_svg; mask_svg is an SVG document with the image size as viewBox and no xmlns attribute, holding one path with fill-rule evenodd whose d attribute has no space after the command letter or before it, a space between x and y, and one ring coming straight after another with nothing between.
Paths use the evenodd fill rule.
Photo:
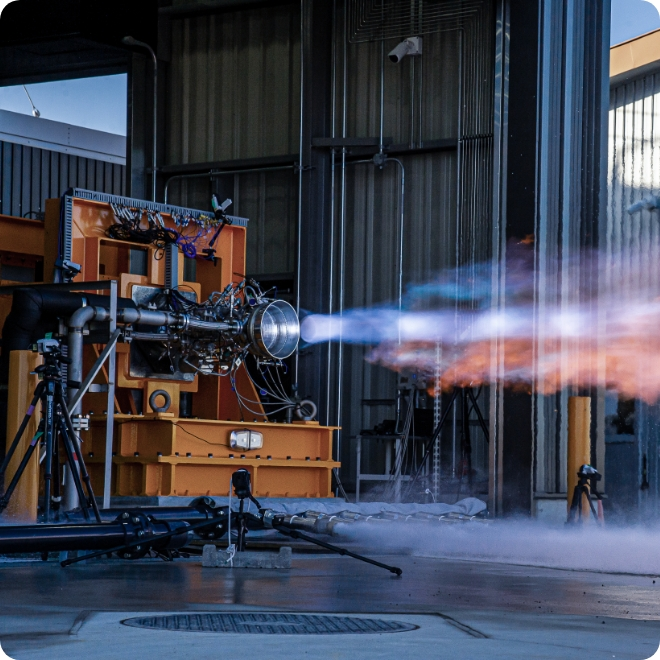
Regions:
<instances>
[{"instance_id":1,"label":"all dark corrugated back wall, both bays either side of the central column","mask_svg":"<svg viewBox=\"0 0 660 660\"><path fill-rule=\"evenodd\" d=\"M406 58L394 65L386 56L397 40L349 43L343 22L345 3L336 3L334 135L379 135L382 64L383 135L413 149L433 140L458 140L457 149L400 156L406 178L406 284L426 281L457 263L476 264L491 257L492 4L484 2L481 13L464 30L426 34L422 57ZM175 165L296 154L299 4L174 19L171 23L167 162ZM370 164L347 164L342 190L340 157L336 159L333 311L337 311L340 297L344 308L395 300L400 168L396 163L387 164L383 170ZM297 177L282 171L223 176L213 181L173 182L170 199L204 207L213 189L232 197L233 212L250 218L248 271L293 272ZM330 377L330 389L338 393L338 353L333 350L330 362L335 372ZM365 362L365 352L359 347L344 348L340 417L346 441L342 444L342 478L349 483L355 464L348 439L393 414L391 409L363 406L362 400L391 399L396 394L396 376ZM337 396L329 397L328 418L333 422L339 414ZM324 402L321 404L324 408ZM324 410L321 415L325 419ZM474 463L480 470L487 468L485 444L478 433Z\"/></svg>"}]
</instances>

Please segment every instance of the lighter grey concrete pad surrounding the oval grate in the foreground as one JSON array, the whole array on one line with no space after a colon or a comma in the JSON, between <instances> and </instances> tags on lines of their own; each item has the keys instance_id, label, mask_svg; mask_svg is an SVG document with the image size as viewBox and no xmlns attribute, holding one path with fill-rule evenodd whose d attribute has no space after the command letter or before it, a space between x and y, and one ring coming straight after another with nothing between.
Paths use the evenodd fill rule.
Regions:
<instances>
[{"instance_id":1,"label":"lighter grey concrete pad surrounding the oval grate in the foreground","mask_svg":"<svg viewBox=\"0 0 660 660\"><path fill-rule=\"evenodd\" d=\"M413 623L419 628L374 635L301 636L154 631L122 625L122 620L139 614L144 613L90 612L80 626L68 633L26 638L20 645L11 640L5 642L5 649L15 660L41 660L46 653L53 660L78 657L89 660L200 657L552 660L580 656L595 660L642 660L653 655L657 647L657 630L643 622L594 617L396 614L387 618ZM474 627L477 623L481 629Z\"/></svg>"}]
</instances>

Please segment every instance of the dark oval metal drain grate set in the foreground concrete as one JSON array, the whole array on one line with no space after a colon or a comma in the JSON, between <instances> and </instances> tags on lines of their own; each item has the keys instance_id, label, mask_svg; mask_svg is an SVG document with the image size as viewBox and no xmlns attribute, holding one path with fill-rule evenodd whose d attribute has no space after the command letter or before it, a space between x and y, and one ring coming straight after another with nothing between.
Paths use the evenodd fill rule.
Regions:
<instances>
[{"instance_id":1,"label":"dark oval metal drain grate set in the foreground concrete","mask_svg":"<svg viewBox=\"0 0 660 660\"><path fill-rule=\"evenodd\" d=\"M402 621L266 612L144 616L126 619L122 623L151 630L258 635L364 635L417 629L417 626Z\"/></svg>"}]
</instances>

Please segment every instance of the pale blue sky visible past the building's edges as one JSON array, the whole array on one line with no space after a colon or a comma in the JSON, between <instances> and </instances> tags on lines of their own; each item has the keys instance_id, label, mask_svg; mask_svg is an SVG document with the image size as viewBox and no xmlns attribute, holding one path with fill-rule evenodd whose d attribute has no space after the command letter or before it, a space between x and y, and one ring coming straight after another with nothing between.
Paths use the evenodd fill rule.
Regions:
<instances>
[{"instance_id":1,"label":"pale blue sky visible past the building's edges","mask_svg":"<svg viewBox=\"0 0 660 660\"><path fill-rule=\"evenodd\" d=\"M660 0L611 1L611 45L660 28ZM0 0L0 12L9 2ZM125 75L40 83L27 89L45 119L126 135ZM22 86L0 87L0 109L32 113Z\"/></svg>"}]
</instances>

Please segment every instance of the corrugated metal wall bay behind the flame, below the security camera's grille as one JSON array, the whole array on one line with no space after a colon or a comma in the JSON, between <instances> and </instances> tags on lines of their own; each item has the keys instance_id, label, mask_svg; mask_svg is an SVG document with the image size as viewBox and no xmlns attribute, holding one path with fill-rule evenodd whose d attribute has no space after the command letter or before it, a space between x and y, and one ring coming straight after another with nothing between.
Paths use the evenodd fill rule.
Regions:
<instances>
[{"instance_id":1,"label":"corrugated metal wall bay behind the flame, below the security camera's grille","mask_svg":"<svg viewBox=\"0 0 660 660\"><path fill-rule=\"evenodd\" d=\"M484 3L480 14L464 30L426 34L422 56L406 58L398 65L390 63L386 56L399 39L385 40L382 45L380 41L347 43L341 16L338 17L336 135L342 134L345 52L346 135L379 135L380 74L384 62L383 136L392 138L394 144L411 147L421 147L431 140L458 139L457 150L400 156L405 168L403 281L406 285L427 282L444 268L476 265L491 258L494 53L491 11L490 3ZM396 304L400 170L394 163L381 170L372 164L349 162L345 176L343 231L341 170L335 185L336 272L344 273L344 308ZM457 199L461 200L458 208ZM342 234L345 235L343 264ZM337 276L335 299L341 297L341 277ZM397 383L394 373L365 360L369 350L343 347L343 380L338 396L341 398L339 421L343 426L342 478L348 483L356 467L352 438L384 418L393 418L395 412L391 406L367 403L393 399ZM473 433L473 443L473 465L486 479L487 447L480 431ZM371 453L379 451L374 448ZM447 460L447 452L444 453L441 469L449 476L453 466ZM363 469L378 462L377 456L363 448Z\"/></svg>"}]
</instances>

